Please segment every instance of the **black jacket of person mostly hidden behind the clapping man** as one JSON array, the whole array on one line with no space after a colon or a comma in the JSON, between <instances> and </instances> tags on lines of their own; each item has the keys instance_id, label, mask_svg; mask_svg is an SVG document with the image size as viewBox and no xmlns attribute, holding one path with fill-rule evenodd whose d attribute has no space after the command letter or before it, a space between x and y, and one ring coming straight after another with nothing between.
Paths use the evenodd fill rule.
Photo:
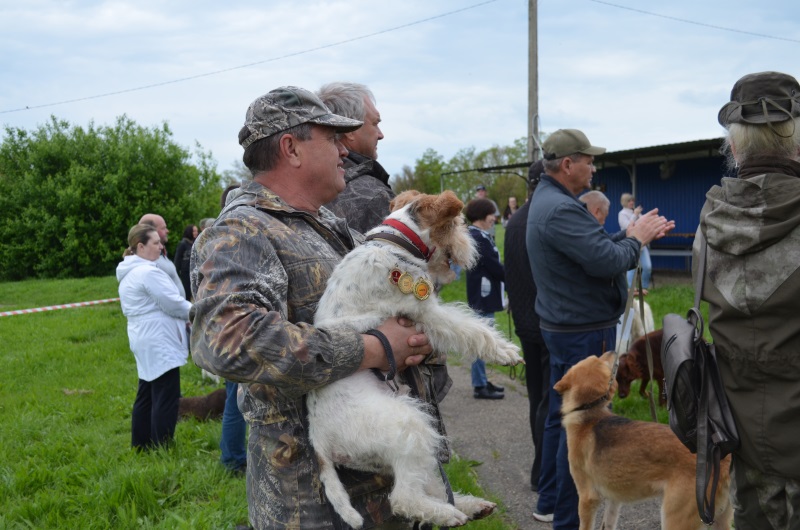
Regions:
<instances>
[{"instance_id":1,"label":"black jacket of person mostly hidden behind the clapping man","mask_svg":"<svg viewBox=\"0 0 800 530\"><path fill-rule=\"evenodd\" d=\"M525 246L528 227L528 209L531 202L523 204L509 219L505 236L505 269L508 309L514 319L514 329L519 338L544 344L539 329L539 315L534 310L536 281L531 274L531 262Z\"/></svg>"}]
</instances>

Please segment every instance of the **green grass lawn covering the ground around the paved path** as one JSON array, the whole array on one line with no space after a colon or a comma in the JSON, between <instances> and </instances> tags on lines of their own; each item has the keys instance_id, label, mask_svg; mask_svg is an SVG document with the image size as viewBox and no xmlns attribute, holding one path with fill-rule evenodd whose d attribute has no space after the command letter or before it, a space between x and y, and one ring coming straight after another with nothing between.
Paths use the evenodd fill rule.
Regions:
<instances>
[{"instance_id":1,"label":"green grass lawn covering the ground around the paved path","mask_svg":"<svg viewBox=\"0 0 800 530\"><path fill-rule=\"evenodd\" d=\"M499 226L498 240L502 244ZM113 277L2 283L0 311L115 297ZM464 301L463 276L442 297ZM663 313L683 313L691 298L691 288L663 287L647 300L659 322ZM496 316L507 332L507 316ZM244 480L218 463L219 422L181 422L173 447L130 450L137 376L119 304L0 317L0 361L0 529L222 529L246 523ZM181 388L192 396L216 386L190 362L181 368ZM614 406L618 413L649 418L637 387ZM455 455L446 466L454 487L485 496L475 474L479 465ZM493 500L501 504L500 515L470 528L514 528L503 517L501 499Z\"/></svg>"}]
</instances>

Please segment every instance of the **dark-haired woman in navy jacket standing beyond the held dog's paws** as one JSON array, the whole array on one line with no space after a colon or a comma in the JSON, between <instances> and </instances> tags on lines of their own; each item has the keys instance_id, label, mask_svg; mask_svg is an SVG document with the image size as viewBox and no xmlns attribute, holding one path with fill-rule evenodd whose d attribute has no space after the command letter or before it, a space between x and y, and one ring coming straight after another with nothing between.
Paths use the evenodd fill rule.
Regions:
<instances>
[{"instance_id":1,"label":"dark-haired woman in navy jacket standing beyond the held dog's paws","mask_svg":"<svg viewBox=\"0 0 800 530\"><path fill-rule=\"evenodd\" d=\"M489 230L497 221L497 210L489 199L473 199L464 214L472 223L469 233L475 240L478 262L467 271L467 303L480 316L494 321L496 311L503 310L503 281L505 271L500 253ZM472 363L472 386L475 399L502 399L503 387L486 378L486 365L481 359Z\"/></svg>"}]
</instances>

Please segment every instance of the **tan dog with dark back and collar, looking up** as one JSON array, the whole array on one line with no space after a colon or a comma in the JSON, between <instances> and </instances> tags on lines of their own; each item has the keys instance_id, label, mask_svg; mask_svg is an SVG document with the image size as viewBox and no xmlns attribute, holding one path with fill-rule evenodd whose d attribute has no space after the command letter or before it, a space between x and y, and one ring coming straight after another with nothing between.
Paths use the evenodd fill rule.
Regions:
<instances>
[{"instance_id":1,"label":"tan dog with dark back and collar, looking up","mask_svg":"<svg viewBox=\"0 0 800 530\"><path fill-rule=\"evenodd\" d=\"M578 489L580 529L594 528L605 498L603 528L617 526L621 504L661 497L661 528L705 528L695 500L697 459L667 425L615 416L608 408L614 353L591 356L556 383L563 397L562 424L567 431L569 470ZM722 461L712 528L729 530L733 507L728 500L730 456Z\"/></svg>"}]
</instances>

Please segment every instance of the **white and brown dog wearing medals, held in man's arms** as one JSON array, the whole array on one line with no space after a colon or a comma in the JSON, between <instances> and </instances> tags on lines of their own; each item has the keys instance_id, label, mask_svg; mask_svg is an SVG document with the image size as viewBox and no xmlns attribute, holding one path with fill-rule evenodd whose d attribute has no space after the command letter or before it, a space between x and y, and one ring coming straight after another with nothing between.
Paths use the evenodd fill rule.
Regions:
<instances>
[{"instance_id":1,"label":"white and brown dog wearing medals, held in man's arms","mask_svg":"<svg viewBox=\"0 0 800 530\"><path fill-rule=\"evenodd\" d=\"M521 363L519 348L464 304L440 303L434 283L452 280L449 262L470 268L476 251L453 192L406 192L384 223L350 252L328 280L314 324L365 332L387 318L417 323L435 351L457 352L495 364ZM397 208L397 209L395 209ZM435 249L434 249L435 247ZM371 371L311 392L309 435L325 493L344 522L363 524L335 465L394 476L389 496L396 515L439 526L460 526L492 512L495 504L447 491L436 458L441 443L434 418L408 391L394 391Z\"/></svg>"}]
</instances>

